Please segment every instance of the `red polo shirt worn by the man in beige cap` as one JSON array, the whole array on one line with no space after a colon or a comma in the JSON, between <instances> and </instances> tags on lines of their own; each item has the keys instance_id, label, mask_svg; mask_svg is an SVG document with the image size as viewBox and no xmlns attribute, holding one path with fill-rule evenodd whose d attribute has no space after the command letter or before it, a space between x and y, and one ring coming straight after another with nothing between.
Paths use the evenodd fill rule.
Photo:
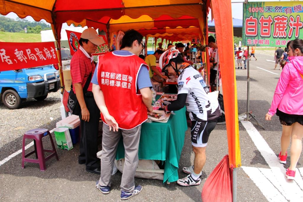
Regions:
<instances>
[{"instance_id":1,"label":"red polo shirt worn by the man in beige cap","mask_svg":"<svg viewBox=\"0 0 303 202\"><path fill-rule=\"evenodd\" d=\"M71 60L71 76L74 93L76 93L74 84L81 83L82 88L84 88L91 72L93 77L95 68L95 63L91 62L91 58L88 58L80 49L75 52ZM92 91L92 83L89 84L87 91Z\"/></svg>"}]
</instances>

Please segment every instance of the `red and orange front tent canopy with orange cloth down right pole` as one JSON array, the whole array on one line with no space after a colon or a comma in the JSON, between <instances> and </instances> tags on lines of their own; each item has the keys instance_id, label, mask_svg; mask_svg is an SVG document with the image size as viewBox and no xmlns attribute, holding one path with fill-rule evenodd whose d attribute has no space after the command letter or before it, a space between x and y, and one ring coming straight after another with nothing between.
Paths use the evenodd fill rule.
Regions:
<instances>
[{"instance_id":1,"label":"red and orange front tent canopy with orange cloth down right pole","mask_svg":"<svg viewBox=\"0 0 303 202\"><path fill-rule=\"evenodd\" d=\"M182 25L182 28L187 28L188 30L191 29L188 28L188 26L195 26L198 28L198 31L193 32L198 33L198 35L203 38L205 44L208 44L206 19L209 8L211 7L216 21L222 88L225 101L229 162L231 166L238 167L241 166L241 157L234 56L233 51L226 51L233 49L230 0L112 0L102 2L95 0L86 0L85 2L82 0L0 1L0 13L2 15L14 12L20 18L25 18L30 15L35 21L45 19L46 22L51 23L57 42L60 40L62 23L65 22L73 22L75 24L85 22L86 25L90 26L94 23L101 23L103 24L102 29L106 28L109 31L110 29L115 30L119 27L126 29L128 25L124 25L124 20L127 19L139 30L145 28L144 31L140 30L140 32L146 32L146 35L165 34L168 33L169 29L178 30L177 25ZM186 14L186 16L184 16L184 14ZM139 24L135 20L137 18L144 18L144 24ZM139 22L142 23L142 19ZM112 24L109 22L112 22ZM188 25L186 25L185 22L188 23ZM169 25L168 23L171 24ZM97 26L97 24L95 24L95 26ZM154 33L148 33L148 31L146 31L152 30L153 28L158 29L158 31ZM161 30L163 30L163 32L159 33ZM186 30L186 32L188 30ZM191 33L192 31L188 32ZM171 33L178 32L172 31ZM183 33L183 31L178 34L180 33Z\"/></svg>"}]
</instances>

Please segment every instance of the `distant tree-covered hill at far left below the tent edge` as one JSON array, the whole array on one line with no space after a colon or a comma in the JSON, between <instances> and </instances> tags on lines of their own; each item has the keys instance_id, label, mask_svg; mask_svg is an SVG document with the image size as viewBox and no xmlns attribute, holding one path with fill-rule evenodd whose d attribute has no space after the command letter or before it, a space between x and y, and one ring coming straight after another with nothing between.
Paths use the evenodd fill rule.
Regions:
<instances>
[{"instance_id":1,"label":"distant tree-covered hill at far left below the tent edge","mask_svg":"<svg viewBox=\"0 0 303 202\"><path fill-rule=\"evenodd\" d=\"M29 22L21 18L14 20L0 15L0 31L25 33L24 28L27 28L27 33L35 34L40 34L42 30L52 29L50 24L44 22Z\"/></svg>"}]
</instances>

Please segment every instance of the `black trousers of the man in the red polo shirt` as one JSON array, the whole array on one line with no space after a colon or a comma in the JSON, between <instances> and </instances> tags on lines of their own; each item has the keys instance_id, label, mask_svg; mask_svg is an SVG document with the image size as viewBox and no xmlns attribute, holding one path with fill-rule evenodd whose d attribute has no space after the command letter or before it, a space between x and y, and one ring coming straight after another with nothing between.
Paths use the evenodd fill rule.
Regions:
<instances>
[{"instance_id":1,"label":"black trousers of the man in the red polo shirt","mask_svg":"<svg viewBox=\"0 0 303 202\"><path fill-rule=\"evenodd\" d=\"M89 121L82 120L82 113L80 112L80 155L78 158L79 163L84 163L86 168L95 169L100 167L100 159L97 157L98 152L98 128L100 110L95 102L94 97L86 97L84 95L86 107L89 111Z\"/></svg>"}]
</instances>

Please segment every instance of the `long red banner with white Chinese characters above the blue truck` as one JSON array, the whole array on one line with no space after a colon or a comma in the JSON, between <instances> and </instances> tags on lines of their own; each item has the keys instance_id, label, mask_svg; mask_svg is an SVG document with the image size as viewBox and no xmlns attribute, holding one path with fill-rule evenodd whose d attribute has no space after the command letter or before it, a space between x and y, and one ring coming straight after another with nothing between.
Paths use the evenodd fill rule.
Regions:
<instances>
[{"instance_id":1,"label":"long red banner with white Chinese characters above the blue truck","mask_svg":"<svg viewBox=\"0 0 303 202\"><path fill-rule=\"evenodd\" d=\"M0 42L0 71L58 63L54 42Z\"/></svg>"}]
</instances>

